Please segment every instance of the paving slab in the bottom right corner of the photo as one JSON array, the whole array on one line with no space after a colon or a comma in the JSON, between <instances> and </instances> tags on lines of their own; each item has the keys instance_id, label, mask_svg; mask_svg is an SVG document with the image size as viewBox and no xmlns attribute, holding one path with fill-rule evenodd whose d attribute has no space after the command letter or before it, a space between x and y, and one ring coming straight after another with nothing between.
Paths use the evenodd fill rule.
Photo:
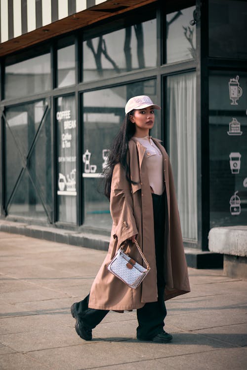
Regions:
<instances>
[{"instance_id":1,"label":"paving slab in the bottom right corner of the photo","mask_svg":"<svg viewBox=\"0 0 247 370\"><path fill-rule=\"evenodd\" d=\"M228 348L157 360L157 369L246 370L247 348Z\"/></svg>"}]
</instances>

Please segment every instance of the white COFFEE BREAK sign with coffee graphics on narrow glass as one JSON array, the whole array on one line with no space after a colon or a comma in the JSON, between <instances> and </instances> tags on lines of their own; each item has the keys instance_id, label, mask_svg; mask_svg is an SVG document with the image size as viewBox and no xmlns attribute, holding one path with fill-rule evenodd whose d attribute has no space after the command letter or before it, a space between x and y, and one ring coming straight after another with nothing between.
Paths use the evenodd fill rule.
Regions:
<instances>
[{"instance_id":1,"label":"white COFFEE BREAK sign with coffee graphics on narrow glass","mask_svg":"<svg viewBox=\"0 0 247 370\"><path fill-rule=\"evenodd\" d=\"M57 101L57 194L76 196L76 117L74 96Z\"/></svg>"}]
</instances>

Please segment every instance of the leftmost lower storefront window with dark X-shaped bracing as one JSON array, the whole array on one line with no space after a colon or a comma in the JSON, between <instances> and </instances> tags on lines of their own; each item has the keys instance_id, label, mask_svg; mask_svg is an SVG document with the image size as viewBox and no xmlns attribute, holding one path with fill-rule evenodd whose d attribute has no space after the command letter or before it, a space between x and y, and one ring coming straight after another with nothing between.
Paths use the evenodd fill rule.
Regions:
<instances>
[{"instance_id":1,"label":"leftmost lower storefront window with dark X-shaped bracing","mask_svg":"<svg viewBox=\"0 0 247 370\"><path fill-rule=\"evenodd\" d=\"M5 204L9 215L51 222L50 109L45 100L5 112Z\"/></svg>"}]
</instances>

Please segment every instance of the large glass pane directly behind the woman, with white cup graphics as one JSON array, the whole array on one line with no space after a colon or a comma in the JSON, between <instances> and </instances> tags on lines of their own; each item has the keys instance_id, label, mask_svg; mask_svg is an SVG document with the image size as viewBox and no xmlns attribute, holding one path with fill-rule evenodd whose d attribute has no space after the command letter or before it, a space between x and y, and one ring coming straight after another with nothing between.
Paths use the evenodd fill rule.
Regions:
<instances>
[{"instance_id":1,"label":"large glass pane directly behind the woman, with white cup graphics","mask_svg":"<svg viewBox=\"0 0 247 370\"><path fill-rule=\"evenodd\" d=\"M83 94L83 178L84 223L110 229L109 202L102 194L102 179L108 150L124 119L126 101L136 95L149 95L157 101L156 80L135 82ZM161 138L161 114L156 111L152 136Z\"/></svg>"}]
</instances>

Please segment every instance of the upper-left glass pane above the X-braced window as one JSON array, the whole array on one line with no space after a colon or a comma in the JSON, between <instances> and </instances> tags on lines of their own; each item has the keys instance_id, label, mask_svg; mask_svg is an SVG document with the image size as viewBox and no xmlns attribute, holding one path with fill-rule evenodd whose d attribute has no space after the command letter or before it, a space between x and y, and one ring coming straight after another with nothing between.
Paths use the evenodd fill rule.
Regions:
<instances>
[{"instance_id":1,"label":"upper-left glass pane above the X-braced window","mask_svg":"<svg viewBox=\"0 0 247 370\"><path fill-rule=\"evenodd\" d=\"M51 87L50 54L5 67L5 98L34 95Z\"/></svg>"}]
</instances>

